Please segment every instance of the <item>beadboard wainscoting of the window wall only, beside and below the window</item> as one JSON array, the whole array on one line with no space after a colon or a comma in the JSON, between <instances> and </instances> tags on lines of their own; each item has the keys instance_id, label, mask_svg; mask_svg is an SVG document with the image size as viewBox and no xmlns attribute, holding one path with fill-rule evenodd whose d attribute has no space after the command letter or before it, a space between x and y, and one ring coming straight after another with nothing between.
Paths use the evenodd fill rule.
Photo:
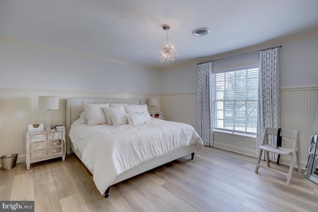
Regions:
<instances>
[{"instance_id":1,"label":"beadboard wainscoting of the window wall only, beside and below the window","mask_svg":"<svg viewBox=\"0 0 318 212\"><path fill-rule=\"evenodd\" d=\"M307 163L317 103L318 87L282 88L280 91L280 126L300 132L303 168ZM161 109L166 120L185 122L193 127L196 126L195 93L162 94ZM256 140L253 137L240 134L214 132L214 146L250 156L256 155ZM281 162L285 161L286 158L281 157Z\"/></svg>"}]
</instances>

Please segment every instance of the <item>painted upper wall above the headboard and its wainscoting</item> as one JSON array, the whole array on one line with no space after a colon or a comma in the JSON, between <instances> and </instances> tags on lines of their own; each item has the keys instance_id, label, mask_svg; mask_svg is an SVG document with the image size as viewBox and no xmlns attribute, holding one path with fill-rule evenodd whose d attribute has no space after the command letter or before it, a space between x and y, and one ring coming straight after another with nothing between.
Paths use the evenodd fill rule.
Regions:
<instances>
[{"instance_id":1,"label":"painted upper wall above the headboard and its wainscoting","mask_svg":"<svg viewBox=\"0 0 318 212\"><path fill-rule=\"evenodd\" d=\"M160 93L159 70L0 39L0 87Z\"/></svg>"}]
</instances>

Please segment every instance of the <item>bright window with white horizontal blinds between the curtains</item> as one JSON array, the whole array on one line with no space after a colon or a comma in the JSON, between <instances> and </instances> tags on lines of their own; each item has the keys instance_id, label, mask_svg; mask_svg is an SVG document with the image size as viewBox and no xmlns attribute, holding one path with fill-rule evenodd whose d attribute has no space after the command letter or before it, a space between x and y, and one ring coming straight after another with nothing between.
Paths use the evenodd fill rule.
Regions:
<instances>
[{"instance_id":1,"label":"bright window with white horizontal blinds between the curtains","mask_svg":"<svg viewBox=\"0 0 318 212\"><path fill-rule=\"evenodd\" d=\"M258 68L213 74L213 128L256 133Z\"/></svg>"}]
</instances>

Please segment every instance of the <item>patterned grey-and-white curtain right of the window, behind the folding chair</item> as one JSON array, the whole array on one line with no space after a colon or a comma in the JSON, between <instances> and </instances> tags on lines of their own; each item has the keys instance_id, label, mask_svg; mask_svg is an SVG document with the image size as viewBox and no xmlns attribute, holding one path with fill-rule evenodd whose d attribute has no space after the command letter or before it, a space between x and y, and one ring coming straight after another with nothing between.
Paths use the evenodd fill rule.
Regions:
<instances>
[{"instance_id":1,"label":"patterned grey-and-white curtain right of the window, behind the folding chair","mask_svg":"<svg viewBox=\"0 0 318 212\"><path fill-rule=\"evenodd\" d=\"M262 143L265 127L279 128L279 63L278 48L260 52L258 81L258 119L256 133L256 157L258 146ZM276 143L276 137L269 138L270 144ZM264 153L264 151L263 151ZM269 158L276 160L277 155L270 153ZM264 159L264 155L262 155Z\"/></svg>"}]
</instances>

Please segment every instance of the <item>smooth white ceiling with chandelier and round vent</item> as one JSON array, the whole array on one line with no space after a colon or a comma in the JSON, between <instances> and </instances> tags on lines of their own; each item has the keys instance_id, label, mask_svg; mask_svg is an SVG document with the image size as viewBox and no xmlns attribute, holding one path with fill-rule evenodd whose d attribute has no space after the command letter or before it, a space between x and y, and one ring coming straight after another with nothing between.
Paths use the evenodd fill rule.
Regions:
<instances>
[{"instance_id":1,"label":"smooth white ceiling with chandelier and round vent","mask_svg":"<svg viewBox=\"0 0 318 212\"><path fill-rule=\"evenodd\" d=\"M173 64L157 60L164 24ZM0 0L0 37L159 69L317 30L318 0Z\"/></svg>"}]
</instances>

